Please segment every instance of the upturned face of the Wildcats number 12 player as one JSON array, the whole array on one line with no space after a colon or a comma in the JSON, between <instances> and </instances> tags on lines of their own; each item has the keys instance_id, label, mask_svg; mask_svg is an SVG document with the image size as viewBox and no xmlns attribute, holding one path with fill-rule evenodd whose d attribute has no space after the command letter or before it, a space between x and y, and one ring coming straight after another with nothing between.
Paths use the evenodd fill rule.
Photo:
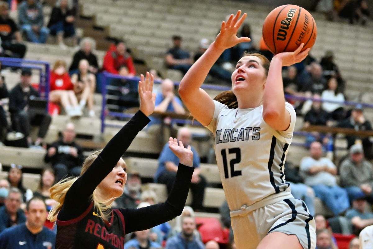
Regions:
<instances>
[{"instance_id":1,"label":"upturned face of the Wildcats number 12 player","mask_svg":"<svg viewBox=\"0 0 373 249\"><path fill-rule=\"evenodd\" d=\"M232 90L238 93L241 90L263 91L267 75L261 59L256 56L244 56L236 64L236 70L232 73Z\"/></svg>"}]
</instances>

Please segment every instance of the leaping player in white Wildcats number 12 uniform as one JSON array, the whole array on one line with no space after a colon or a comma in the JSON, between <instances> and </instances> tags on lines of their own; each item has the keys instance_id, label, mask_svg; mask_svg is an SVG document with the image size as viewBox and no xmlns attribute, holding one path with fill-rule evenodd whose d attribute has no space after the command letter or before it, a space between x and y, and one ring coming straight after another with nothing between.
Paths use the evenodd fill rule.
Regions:
<instances>
[{"instance_id":1,"label":"leaping player in white Wildcats number 12 uniform","mask_svg":"<svg viewBox=\"0 0 373 249\"><path fill-rule=\"evenodd\" d=\"M214 133L237 248L313 249L314 219L291 195L283 174L296 115L285 103L281 77L282 66L301 62L309 49L300 52L302 44L272 62L257 53L245 55L232 74L232 91L215 100L200 88L225 49L250 41L236 36L246 17L240 15L222 23L216 40L184 76L179 94L194 118Z\"/></svg>"}]
</instances>

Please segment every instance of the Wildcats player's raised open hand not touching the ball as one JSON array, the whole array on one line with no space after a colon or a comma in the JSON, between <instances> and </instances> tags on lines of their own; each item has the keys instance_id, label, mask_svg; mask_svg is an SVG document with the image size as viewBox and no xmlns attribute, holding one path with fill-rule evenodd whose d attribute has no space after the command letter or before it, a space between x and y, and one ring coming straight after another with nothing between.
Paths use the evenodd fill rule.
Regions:
<instances>
[{"instance_id":1,"label":"Wildcats player's raised open hand not touching the ball","mask_svg":"<svg viewBox=\"0 0 373 249\"><path fill-rule=\"evenodd\" d=\"M220 28L220 33L217 35L214 46L219 49L229 49L230 47L236 46L238 43L244 41L251 41L248 37L237 37L237 31L244 22L247 14L244 13L241 18L241 10L238 10L236 15L229 16L228 21L222 22L222 27Z\"/></svg>"}]
</instances>

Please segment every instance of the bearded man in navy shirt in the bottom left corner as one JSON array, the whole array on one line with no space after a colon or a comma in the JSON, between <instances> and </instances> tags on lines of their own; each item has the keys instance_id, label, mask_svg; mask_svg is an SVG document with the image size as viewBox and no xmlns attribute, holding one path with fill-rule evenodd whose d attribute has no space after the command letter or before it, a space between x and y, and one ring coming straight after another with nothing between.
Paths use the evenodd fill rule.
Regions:
<instances>
[{"instance_id":1,"label":"bearded man in navy shirt in the bottom left corner","mask_svg":"<svg viewBox=\"0 0 373 249\"><path fill-rule=\"evenodd\" d=\"M31 198L26 204L26 222L7 228L0 233L0 248L54 249L56 234L44 227L47 207L39 197Z\"/></svg>"}]
</instances>

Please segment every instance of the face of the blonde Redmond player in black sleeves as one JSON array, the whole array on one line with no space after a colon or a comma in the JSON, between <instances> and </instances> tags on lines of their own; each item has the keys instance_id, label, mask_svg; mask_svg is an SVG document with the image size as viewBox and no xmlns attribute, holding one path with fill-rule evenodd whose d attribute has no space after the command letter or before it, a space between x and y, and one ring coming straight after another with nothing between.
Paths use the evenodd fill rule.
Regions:
<instances>
[{"instance_id":1,"label":"face of the blonde Redmond player in black sleeves","mask_svg":"<svg viewBox=\"0 0 373 249\"><path fill-rule=\"evenodd\" d=\"M120 158L113 170L98 184L97 187L105 198L120 197L123 194L127 181L126 170L126 163Z\"/></svg>"}]
</instances>

